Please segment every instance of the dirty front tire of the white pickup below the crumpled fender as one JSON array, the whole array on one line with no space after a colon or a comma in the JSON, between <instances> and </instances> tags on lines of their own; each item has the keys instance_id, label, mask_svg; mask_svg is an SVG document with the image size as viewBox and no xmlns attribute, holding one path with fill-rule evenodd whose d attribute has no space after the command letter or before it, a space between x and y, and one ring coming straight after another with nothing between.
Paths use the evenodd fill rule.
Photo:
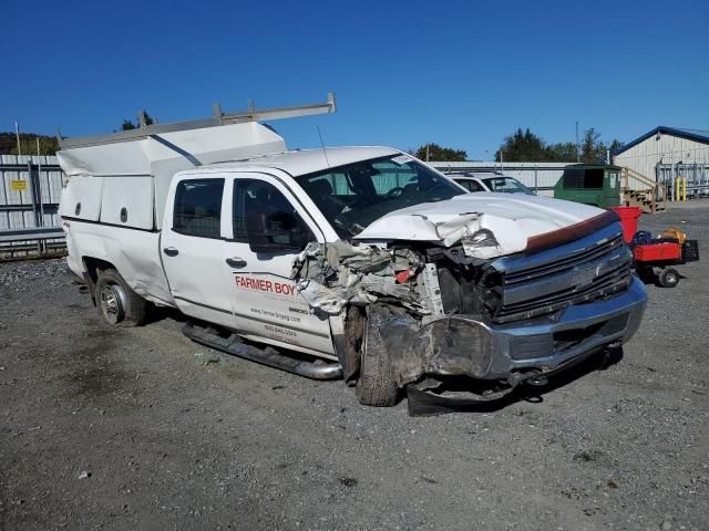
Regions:
<instances>
[{"instance_id":1,"label":"dirty front tire of the white pickup below the crumpled fender","mask_svg":"<svg viewBox=\"0 0 709 531\"><path fill-rule=\"evenodd\" d=\"M397 404L399 387L393 378L391 360L381 337L380 326L388 312L378 305L367 309L367 325L361 348L357 398L360 404L389 407Z\"/></svg>"}]
</instances>

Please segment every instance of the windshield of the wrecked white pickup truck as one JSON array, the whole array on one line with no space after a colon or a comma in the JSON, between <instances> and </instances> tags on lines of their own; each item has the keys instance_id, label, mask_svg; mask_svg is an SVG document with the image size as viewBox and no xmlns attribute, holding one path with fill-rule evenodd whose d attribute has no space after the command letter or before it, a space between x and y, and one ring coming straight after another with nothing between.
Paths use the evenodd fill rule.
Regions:
<instances>
[{"instance_id":1,"label":"windshield of the wrecked white pickup truck","mask_svg":"<svg viewBox=\"0 0 709 531\"><path fill-rule=\"evenodd\" d=\"M465 194L408 155L362 160L297 180L343 238L394 210Z\"/></svg>"}]
</instances>

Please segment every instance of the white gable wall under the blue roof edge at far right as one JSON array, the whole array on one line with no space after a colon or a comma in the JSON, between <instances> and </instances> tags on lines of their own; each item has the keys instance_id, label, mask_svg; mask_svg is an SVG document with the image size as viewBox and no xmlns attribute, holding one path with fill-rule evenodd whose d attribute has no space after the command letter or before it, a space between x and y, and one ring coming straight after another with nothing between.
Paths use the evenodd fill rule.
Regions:
<instances>
[{"instance_id":1,"label":"white gable wall under the blue roof edge at far right","mask_svg":"<svg viewBox=\"0 0 709 531\"><path fill-rule=\"evenodd\" d=\"M658 164L709 164L709 145L661 133L616 155L613 160L655 180Z\"/></svg>"}]
</instances>

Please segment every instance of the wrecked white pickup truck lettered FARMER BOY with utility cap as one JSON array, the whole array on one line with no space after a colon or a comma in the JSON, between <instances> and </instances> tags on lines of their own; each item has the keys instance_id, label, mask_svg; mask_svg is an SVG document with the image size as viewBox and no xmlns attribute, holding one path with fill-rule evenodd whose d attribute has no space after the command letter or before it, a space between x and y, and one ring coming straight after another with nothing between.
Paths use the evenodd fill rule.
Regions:
<instances>
[{"instance_id":1,"label":"wrecked white pickup truck lettered FARMER BOY with utility cap","mask_svg":"<svg viewBox=\"0 0 709 531\"><path fill-rule=\"evenodd\" d=\"M109 324L176 308L197 342L376 406L449 376L543 385L636 332L614 212L465 194L388 147L288 152L258 123L288 111L62 140L69 264Z\"/></svg>"}]
</instances>

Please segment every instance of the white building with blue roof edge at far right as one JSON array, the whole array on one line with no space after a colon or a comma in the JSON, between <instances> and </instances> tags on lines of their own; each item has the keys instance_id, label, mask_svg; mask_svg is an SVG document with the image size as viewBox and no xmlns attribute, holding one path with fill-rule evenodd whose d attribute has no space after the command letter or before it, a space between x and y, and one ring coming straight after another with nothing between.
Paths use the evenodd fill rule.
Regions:
<instances>
[{"instance_id":1,"label":"white building with blue roof edge at far right","mask_svg":"<svg viewBox=\"0 0 709 531\"><path fill-rule=\"evenodd\" d=\"M709 131L655 127L618 148L613 163L653 180L659 165L709 165Z\"/></svg>"}]
</instances>

